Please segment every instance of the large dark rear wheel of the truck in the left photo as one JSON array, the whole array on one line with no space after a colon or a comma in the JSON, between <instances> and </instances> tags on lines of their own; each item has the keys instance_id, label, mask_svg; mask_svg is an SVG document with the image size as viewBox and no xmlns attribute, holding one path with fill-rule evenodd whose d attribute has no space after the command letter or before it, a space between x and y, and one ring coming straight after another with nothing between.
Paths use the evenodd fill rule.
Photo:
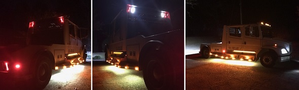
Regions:
<instances>
[{"instance_id":1,"label":"large dark rear wheel of the truck in the left photo","mask_svg":"<svg viewBox=\"0 0 299 90\"><path fill-rule=\"evenodd\" d=\"M51 69L50 59L48 57L41 57L38 59L35 70L33 74L33 87L37 89L44 89L51 78L52 69Z\"/></svg>"}]
</instances>

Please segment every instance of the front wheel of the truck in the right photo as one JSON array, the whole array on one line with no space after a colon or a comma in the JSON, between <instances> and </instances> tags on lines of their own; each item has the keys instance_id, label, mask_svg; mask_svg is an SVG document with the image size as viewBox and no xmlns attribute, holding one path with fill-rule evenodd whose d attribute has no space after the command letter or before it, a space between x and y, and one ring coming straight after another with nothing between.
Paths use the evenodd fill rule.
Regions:
<instances>
[{"instance_id":1,"label":"front wheel of the truck in the right photo","mask_svg":"<svg viewBox=\"0 0 299 90\"><path fill-rule=\"evenodd\" d=\"M276 62L276 53L266 52L260 57L260 64L265 67L273 67Z\"/></svg>"}]
</instances>

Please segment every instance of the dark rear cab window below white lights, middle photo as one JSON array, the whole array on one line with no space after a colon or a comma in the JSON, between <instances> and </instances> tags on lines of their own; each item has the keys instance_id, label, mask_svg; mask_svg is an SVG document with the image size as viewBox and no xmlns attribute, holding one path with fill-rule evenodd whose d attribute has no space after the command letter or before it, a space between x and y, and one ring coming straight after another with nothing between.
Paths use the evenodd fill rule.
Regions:
<instances>
[{"instance_id":1,"label":"dark rear cab window below white lights, middle photo","mask_svg":"<svg viewBox=\"0 0 299 90\"><path fill-rule=\"evenodd\" d=\"M161 18L161 11L153 9L155 8L136 7L134 14L128 13L127 39L138 35L147 37L172 30L170 19Z\"/></svg>"}]
</instances>

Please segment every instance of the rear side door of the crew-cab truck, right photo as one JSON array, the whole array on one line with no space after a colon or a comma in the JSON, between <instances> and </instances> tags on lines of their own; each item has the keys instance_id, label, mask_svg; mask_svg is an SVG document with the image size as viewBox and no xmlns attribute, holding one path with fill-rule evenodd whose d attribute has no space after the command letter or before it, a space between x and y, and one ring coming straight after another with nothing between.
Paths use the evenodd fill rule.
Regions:
<instances>
[{"instance_id":1,"label":"rear side door of the crew-cab truck, right photo","mask_svg":"<svg viewBox=\"0 0 299 90\"><path fill-rule=\"evenodd\" d=\"M243 36L242 27L228 27L227 31L227 49L229 51L233 50L244 50L243 48Z\"/></svg>"}]
</instances>

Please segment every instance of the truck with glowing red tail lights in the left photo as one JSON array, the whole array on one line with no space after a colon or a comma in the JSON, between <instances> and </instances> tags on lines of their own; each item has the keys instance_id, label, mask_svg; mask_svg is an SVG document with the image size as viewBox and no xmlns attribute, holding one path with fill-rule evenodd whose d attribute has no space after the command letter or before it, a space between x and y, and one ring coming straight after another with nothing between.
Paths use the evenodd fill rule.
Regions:
<instances>
[{"instance_id":1,"label":"truck with glowing red tail lights in the left photo","mask_svg":"<svg viewBox=\"0 0 299 90\"><path fill-rule=\"evenodd\" d=\"M86 48L81 39L87 36L86 32L67 17L53 17L29 22L23 44L20 40L2 38L1 83L28 82L34 89L45 88L52 70L85 62Z\"/></svg>"}]
</instances>

